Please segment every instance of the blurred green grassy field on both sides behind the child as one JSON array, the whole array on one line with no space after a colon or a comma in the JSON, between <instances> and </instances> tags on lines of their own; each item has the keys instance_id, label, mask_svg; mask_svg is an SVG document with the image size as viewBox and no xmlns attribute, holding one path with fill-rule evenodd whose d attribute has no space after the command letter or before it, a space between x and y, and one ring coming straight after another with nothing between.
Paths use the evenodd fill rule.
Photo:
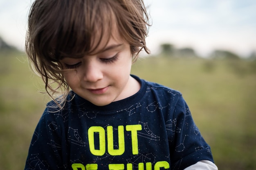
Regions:
<instances>
[{"instance_id":1,"label":"blurred green grassy field on both sides behind the child","mask_svg":"<svg viewBox=\"0 0 256 170\"><path fill-rule=\"evenodd\" d=\"M256 169L256 62L139 59L132 74L182 92L220 170ZM24 168L49 98L20 52L0 53L0 169Z\"/></svg>"}]
</instances>

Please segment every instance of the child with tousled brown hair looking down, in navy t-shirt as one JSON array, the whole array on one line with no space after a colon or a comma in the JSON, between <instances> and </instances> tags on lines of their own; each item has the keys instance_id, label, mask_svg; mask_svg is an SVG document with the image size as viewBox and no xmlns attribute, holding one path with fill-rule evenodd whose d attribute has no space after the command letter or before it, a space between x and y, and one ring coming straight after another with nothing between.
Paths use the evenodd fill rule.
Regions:
<instances>
[{"instance_id":1,"label":"child with tousled brown hair looking down, in navy t-shirt","mask_svg":"<svg viewBox=\"0 0 256 170\"><path fill-rule=\"evenodd\" d=\"M25 170L217 169L180 92L130 75L149 53L143 0L36 0L28 21L28 57L46 92L63 95Z\"/></svg>"}]
</instances>

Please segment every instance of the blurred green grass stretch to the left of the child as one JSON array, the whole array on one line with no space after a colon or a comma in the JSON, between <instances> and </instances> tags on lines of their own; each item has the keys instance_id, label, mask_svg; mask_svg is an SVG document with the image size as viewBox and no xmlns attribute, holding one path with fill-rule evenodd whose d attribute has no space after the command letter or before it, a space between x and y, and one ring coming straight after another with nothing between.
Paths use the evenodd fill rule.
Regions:
<instances>
[{"instance_id":1,"label":"blurred green grass stretch to the left of the child","mask_svg":"<svg viewBox=\"0 0 256 170\"><path fill-rule=\"evenodd\" d=\"M38 80L38 83L37 83ZM23 52L0 52L0 169L24 169L45 101ZM38 84L38 85L37 85Z\"/></svg>"}]
</instances>

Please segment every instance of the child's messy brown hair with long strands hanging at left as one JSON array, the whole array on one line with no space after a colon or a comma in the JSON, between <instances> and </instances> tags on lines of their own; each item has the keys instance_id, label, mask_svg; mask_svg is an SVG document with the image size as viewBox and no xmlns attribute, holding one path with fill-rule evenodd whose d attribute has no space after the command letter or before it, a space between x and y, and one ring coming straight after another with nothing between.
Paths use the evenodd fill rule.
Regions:
<instances>
[{"instance_id":1,"label":"child's messy brown hair with long strands hanging at left","mask_svg":"<svg viewBox=\"0 0 256 170\"><path fill-rule=\"evenodd\" d=\"M149 53L145 41L148 19L143 0L35 0L29 11L25 50L43 78L46 93L54 99L54 94L62 92L61 102L65 102L70 89L59 61L94 54L103 33L108 31L110 39L114 25L136 60L142 49Z\"/></svg>"}]
</instances>

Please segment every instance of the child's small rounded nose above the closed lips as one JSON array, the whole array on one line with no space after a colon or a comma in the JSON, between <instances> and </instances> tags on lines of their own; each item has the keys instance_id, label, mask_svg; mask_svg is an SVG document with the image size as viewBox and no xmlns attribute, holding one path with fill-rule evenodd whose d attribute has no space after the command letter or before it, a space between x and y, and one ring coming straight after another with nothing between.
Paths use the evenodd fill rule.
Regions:
<instances>
[{"instance_id":1,"label":"child's small rounded nose above the closed lips","mask_svg":"<svg viewBox=\"0 0 256 170\"><path fill-rule=\"evenodd\" d=\"M88 82L97 82L103 78L103 72L97 63L88 63L84 69L83 79Z\"/></svg>"}]
</instances>

